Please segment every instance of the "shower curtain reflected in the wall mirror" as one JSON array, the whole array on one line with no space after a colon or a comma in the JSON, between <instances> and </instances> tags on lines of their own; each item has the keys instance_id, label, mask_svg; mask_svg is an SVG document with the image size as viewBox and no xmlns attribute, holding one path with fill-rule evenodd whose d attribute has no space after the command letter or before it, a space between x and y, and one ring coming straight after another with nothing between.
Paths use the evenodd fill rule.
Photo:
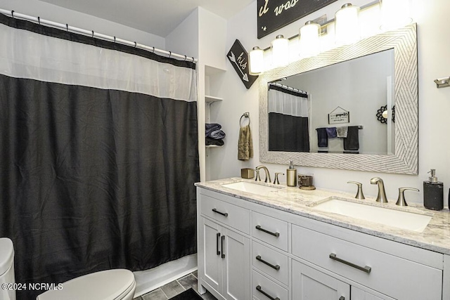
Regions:
<instances>
[{"instance_id":1,"label":"shower curtain reflected in the wall mirror","mask_svg":"<svg viewBox=\"0 0 450 300\"><path fill-rule=\"evenodd\" d=\"M309 152L309 102L305 93L269 85L269 151Z\"/></svg>"}]
</instances>

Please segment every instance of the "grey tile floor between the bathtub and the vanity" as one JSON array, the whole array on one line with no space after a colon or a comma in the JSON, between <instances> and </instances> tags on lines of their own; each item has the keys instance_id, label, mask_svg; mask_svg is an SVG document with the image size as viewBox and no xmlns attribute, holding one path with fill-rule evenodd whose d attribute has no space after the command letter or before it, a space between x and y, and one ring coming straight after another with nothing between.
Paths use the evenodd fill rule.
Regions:
<instances>
[{"instance_id":1,"label":"grey tile floor between the bathtub and the vanity","mask_svg":"<svg viewBox=\"0 0 450 300\"><path fill-rule=\"evenodd\" d=\"M134 300L167 300L177 294L180 294L181 292L186 291L186 289L190 289L191 287L195 290L195 292L198 292L197 271L169 282L167 285L163 285L152 292L134 298ZM203 294L202 298L206 300L217 300L214 296L212 296L212 294L210 294L210 292Z\"/></svg>"}]
</instances>

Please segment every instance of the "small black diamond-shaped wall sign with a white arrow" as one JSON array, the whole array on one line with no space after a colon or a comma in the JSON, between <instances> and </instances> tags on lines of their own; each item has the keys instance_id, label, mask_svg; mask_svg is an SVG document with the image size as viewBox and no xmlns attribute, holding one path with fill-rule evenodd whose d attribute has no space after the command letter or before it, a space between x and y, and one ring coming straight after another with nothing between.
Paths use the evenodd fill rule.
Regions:
<instances>
[{"instance_id":1,"label":"small black diamond-shaped wall sign with a white arrow","mask_svg":"<svg viewBox=\"0 0 450 300\"><path fill-rule=\"evenodd\" d=\"M258 78L255 75L250 75L250 63L248 62L248 53L245 48L240 44L240 41L236 39L233 46L231 46L230 51L226 54L231 65L233 65L234 70L238 73L238 76L242 80L243 84L247 89Z\"/></svg>"}]
</instances>

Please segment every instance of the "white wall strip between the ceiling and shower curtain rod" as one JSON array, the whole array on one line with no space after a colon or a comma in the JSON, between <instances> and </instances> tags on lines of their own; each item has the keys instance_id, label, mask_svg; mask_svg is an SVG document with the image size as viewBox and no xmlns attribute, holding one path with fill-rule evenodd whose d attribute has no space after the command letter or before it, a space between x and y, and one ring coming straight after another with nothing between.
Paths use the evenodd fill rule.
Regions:
<instances>
[{"instance_id":1,"label":"white wall strip between the ceiling and shower curtain rod","mask_svg":"<svg viewBox=\"0 0 450 300\"><path fill-rule=\"evenodd\" d=\"M136 41L139 44L165 49L165 39L158 35L136 30L131 27L120 25L116 22L110 22L92 15L71 11L53 4L39 0L0 0L0 8L25 15L33 15L45 20L68 24L79 27L84 30L94 30L101 34L107 34L111 37Z\"/></svg>"}]
</instances>

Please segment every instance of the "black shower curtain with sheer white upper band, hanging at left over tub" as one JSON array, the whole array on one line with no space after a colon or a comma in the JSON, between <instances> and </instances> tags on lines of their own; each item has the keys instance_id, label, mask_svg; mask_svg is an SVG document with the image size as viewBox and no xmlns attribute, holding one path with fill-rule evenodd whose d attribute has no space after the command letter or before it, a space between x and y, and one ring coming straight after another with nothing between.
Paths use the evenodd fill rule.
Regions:
<instances>
[{"instance_id":1,"label":"black shower curtain with sheer white upper band, hanging at left over tub","mask_svg":"<svg viewBox=\"0 0 450 300\"><path fill-rule=\"evenodd\" d=\"M0 14L0 237L16 282L196 252L196 97L193 63Z\"/></svg>"}]
</instances>

